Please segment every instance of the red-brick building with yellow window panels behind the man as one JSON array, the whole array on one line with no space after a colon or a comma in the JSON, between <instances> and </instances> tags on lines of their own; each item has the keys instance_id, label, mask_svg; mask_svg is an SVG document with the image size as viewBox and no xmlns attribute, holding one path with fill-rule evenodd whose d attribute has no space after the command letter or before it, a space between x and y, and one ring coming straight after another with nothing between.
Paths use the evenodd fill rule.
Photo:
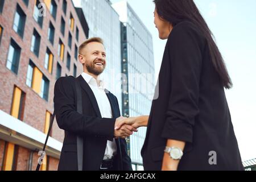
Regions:
<instances>
[{"instance_id":1,"label":"red-brick building with yellow window panels behind the man","mask_svg":"<svg viewBox=\"0 0 256 182\"><path fill-rule=\"evenodd\" d=\"M43 16L42 16L43 14ZM78 76L88 37L71 0L0 0L0 169L35 170L60 76ZM56 170L64 131L53 123L41 170Z\"/></svg>"}]
</instances>

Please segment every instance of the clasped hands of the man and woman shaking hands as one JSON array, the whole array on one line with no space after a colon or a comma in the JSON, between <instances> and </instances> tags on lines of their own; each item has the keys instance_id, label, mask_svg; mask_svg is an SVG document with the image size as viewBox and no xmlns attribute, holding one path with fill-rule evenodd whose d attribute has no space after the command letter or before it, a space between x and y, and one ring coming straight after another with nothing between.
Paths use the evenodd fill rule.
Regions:
<instances>
[{"instance_id":1,"label":"clasped hands of the man and woman shaking hands","mask_svg":"<svg viewBox=\"0 0 256 182\"><path fill-rule=\"evenodd\" d=\"M147 126L148 115L139 117L119 117L115 120L114 137L123 138L129 137L133 132L137 132L141 126Z\"/></svg>"}]
</instances>

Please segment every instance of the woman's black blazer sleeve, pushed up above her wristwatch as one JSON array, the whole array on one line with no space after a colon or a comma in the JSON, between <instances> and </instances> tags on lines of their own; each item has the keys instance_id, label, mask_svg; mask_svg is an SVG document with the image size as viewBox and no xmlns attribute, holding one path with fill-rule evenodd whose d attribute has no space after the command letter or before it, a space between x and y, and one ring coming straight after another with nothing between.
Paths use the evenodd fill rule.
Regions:
<instances>
[{"instance_id":1,"label":"woman's black blazer sleeve, pushed up above her wristwatch","mask_svg":"<svg viewBox=\"0 0 256 182\"><path fill-rule=\"evenodd\" d=\"M162 137L192 143L195 117L199 114L202 38L187 24L177 26L167 41L171 92Z\"/></svg>"}]
</instances>

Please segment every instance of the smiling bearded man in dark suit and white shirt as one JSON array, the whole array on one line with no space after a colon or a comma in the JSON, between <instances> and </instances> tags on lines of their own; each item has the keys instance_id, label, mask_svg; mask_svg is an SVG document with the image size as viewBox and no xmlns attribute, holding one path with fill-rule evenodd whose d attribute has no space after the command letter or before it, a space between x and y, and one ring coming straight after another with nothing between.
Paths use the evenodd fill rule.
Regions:
<instances>
[{"instance_id":1,"label":"smiling bearded man in dark suit and white shirt","mask_svg":"<svg viewBox=\"0 0 256 182\"><path fill-rule=\"evenodd\" d=\"M77 78L60 77L55 84L54 107L60 129L65 130L58 170L132 170L126 137L137 131L123 125L117 98L100 74L106 67L105 47L100 38L86 40L79 47L84 72ZM82 114L76 108L76 79L81 86Z\"/></svg>"}]
</instances>

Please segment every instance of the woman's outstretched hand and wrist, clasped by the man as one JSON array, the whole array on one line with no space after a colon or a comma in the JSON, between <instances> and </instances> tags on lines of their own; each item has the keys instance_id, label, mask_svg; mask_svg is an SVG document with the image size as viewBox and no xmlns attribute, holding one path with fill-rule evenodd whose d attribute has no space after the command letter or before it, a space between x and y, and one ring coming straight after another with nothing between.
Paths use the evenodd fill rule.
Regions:
<instances>
[{"instance_id":1,"label":"woman's outstretched hand and wrist, clasped by the man","mask_svg":"<svg viewBox=\"0 0 256 182\"><path fill-rule=\"evenodd\" d=\"M131 125L135 129L138 129L138 127L141 126L147 126L148 122L148 115L139 116L139 117L129 117L122 119L121 122L118 123L117 126L115 126L115 130L118 130L122 127L122 125Z\"/></svg>"}]
</instances>

